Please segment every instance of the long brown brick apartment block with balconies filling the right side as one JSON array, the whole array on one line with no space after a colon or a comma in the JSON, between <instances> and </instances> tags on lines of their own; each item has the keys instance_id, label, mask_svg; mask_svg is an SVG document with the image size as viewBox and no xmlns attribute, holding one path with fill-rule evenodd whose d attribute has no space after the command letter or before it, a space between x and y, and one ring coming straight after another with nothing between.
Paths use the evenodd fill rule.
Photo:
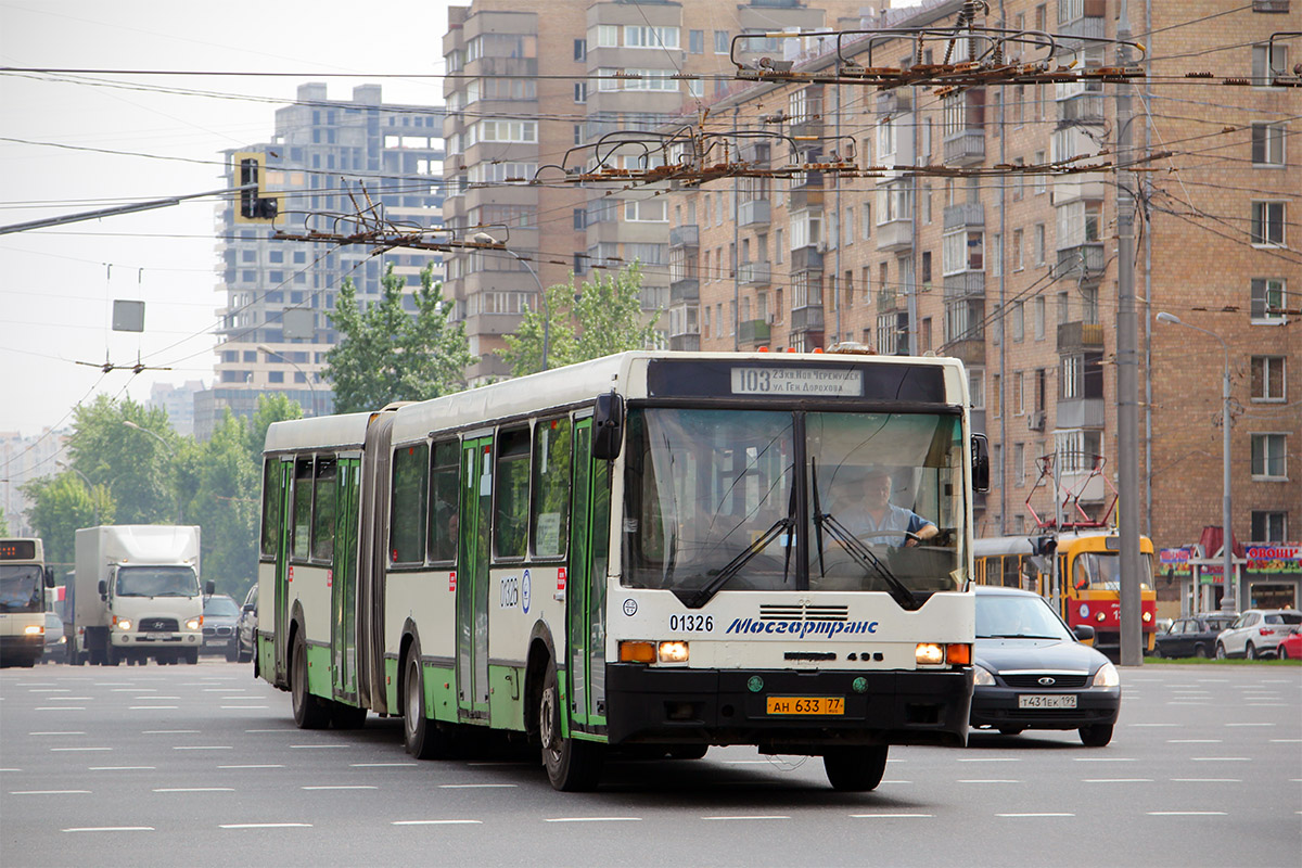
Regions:
<instances>
[{"instance_id":1,"label":"long brown brick apartment block with balconies filling the right side","mask_svg":"<svg viewBox=\"0 0 1302 868\"><path fill-rule=\"evenodd\" d=\"M865 21L952 27L962 5L924 3ZM1116 62L1117 47L1090 38L1116 36L1120 5L1005 0L976 23L1055 34L1052 44L1012 47L1010 60L1052 52L1055 64L1098 68ZM1271 38L1302 30L1302 14L1279 1L1131 1L1129 16L1147 48L1131 49L1131 62L1148 73L1131 88L1133 143L1141 154L1169 152L1135 173L1141 527L1159 548L1174 548L1220 526L1228 364L1234 536L1295 541L1302 233L1293 212L1302 160L1289 141L1297 91L1271 81L1293 74L1299 47ZM861 39L846 51L865 66L941 62L947 51L928 40L918 57L909 38ZM954 51L963 56L963 40ZM836 64L824 51L796 69L828 73ZM995 485L979 498L979 532L1031 532L1056 518L1061 496L1066 521L1113 519L1117 181L1111 170L1038 170L1112 160L1113 95L1111 85L1083 82L948 92L767 83L711 102L703 130L769 134L743 139L743 159L781 165L794 147L801 161L828 161L846 156L853 139L854 161L881 170L671 194L671 345L811 350L859 341L885 354L960 357L974 419L992 444ZM898 170L913 165L932 169ZM992 167L1009 168L983 172ZM1159 321L1157 312L1212 334ZM1053 472L1059 498L1044 475ZM1295 557L1246 562L1241 579L1243 608L1302 601ZM1163 597L1181 596L1178 587L1161 583ZM1219 600L1213 587L1200 593L1204 606ZM1191 604L1187 583L1184 596Z\"/></svg>"}]
</instances>

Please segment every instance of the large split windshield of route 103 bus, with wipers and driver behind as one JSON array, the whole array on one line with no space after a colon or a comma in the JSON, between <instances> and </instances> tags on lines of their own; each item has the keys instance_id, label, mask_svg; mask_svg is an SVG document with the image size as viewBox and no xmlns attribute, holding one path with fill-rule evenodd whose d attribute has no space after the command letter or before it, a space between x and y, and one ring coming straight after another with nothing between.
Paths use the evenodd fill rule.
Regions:
<instances>
[{"instance_id":1,"label":"large split windshield of route 103 bus, with wipers and driver behind","mask_svg":"<svg viewBox=\"0 0 1302 868\"><path fill-rule=\"evenodd\" d=\"M630 587L960 587L957 415L634 407L628 431ZM879 501L866 489L870 476ZM849 550L855 541L867 557Z\"/></svg>"}]
</instances>

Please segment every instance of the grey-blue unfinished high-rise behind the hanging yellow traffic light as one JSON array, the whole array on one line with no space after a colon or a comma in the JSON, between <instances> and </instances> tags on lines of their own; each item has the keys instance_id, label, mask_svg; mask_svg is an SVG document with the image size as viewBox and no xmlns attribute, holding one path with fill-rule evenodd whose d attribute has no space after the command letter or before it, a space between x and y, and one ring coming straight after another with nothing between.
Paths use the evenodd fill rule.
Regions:
<instances>
[{"instance_id":1,"label":"grey-blue unfinished high-rise behind the hanging yellow traffic light","mask_svg":"<svg viewBox=\"0 0 1302 868\"><path fill-rule=\"evenodd\" d=\"M227 152L227 182L236 185L230 156L263 155L267 189L280 197L276 229L350 234L355 215L368 211L401 228L443 223L443 109L384 103L379 85L329 99L323 83L298 87L293 104L276 109L268 142ZM280 392L306 415L333 407L322 379L326 353L337 342L328 314L345 278L361 305L379 298L389 264L410 290L441 254L395 250L379 256L365 245L335 246L273 241L268 225L238 223L228 202L216 217L217 292L223 306L215 381L195 396L194 429L206 440L229 409L250 416L256 398ZM414 310L414 305L411 307Z\"/></svg>"}]
</instances>

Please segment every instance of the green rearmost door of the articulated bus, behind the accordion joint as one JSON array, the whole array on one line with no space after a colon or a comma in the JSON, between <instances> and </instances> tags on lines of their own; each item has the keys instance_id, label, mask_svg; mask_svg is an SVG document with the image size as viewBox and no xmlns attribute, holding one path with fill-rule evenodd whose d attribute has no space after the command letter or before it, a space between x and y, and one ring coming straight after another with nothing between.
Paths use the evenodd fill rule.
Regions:
<instances>
[{"instance_id":1,"label":"green rearmost door of the articulated bus, behind the accordion joint","mask_svg":"<svg viewBox=\"0 0 1302 868\"><path fill-rule=\"evenodd\" d=\"M331 673L336 699L357 700L357 528L359 458L340 458L331 565Z\"/></svg>"}]
</instances>

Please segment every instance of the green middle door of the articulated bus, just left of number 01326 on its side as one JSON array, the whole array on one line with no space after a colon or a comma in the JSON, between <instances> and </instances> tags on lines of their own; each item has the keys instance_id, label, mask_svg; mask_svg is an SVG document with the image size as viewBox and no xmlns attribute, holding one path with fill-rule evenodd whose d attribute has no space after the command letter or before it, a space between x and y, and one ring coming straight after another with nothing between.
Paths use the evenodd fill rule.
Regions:
<instances>
[{"instance_id":1,"label":"green middle door of the articulated bus, just left of number 01326 on its side","mask_svg":"<svg viewBox=\"0 0 1302 868\"><path fill-rule=\"evenodd\" d=\"M457 557L457 704L462 717L488 717L488 531L492 436L461 444L461 532Z\"/></svg>"}]
</instances>

